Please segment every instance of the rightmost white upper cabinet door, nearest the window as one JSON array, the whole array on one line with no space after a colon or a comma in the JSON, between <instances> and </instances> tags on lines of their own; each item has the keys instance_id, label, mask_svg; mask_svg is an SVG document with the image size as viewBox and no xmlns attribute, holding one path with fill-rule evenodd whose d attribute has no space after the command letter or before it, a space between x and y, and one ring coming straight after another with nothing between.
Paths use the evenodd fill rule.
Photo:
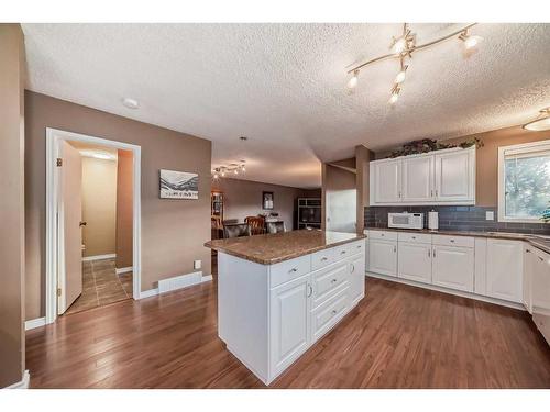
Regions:
<instances>
[{"instance_id":1,"label":"rightmost white upper cabinet door, nearest the window","mask_svg":"<svg viewBox=\"0 0 550 412\"><path fill-rule=\"evenodd\" d=\"M435 155L435 164L436 201L474 200L475 152L473 149Z\"/></svg>"}]
</instances>

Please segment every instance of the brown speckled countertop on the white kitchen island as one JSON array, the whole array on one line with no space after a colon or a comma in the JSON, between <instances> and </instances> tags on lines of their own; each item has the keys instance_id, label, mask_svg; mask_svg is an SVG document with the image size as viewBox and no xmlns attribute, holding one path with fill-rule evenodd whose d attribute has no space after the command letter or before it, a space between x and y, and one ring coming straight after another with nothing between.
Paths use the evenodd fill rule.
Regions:
<instances>
[{"instance_id":1,"label":"brown speckled countertop on the white kitchen island","mask_svg":"<svg viewBox=\"0 0 550 412\"><path fill-rule=\"evenodd\" d=\"M262 265L273 265L364 238L356 233L300 230L210 241L206 247Z\"/></svg>"}]
</instances>

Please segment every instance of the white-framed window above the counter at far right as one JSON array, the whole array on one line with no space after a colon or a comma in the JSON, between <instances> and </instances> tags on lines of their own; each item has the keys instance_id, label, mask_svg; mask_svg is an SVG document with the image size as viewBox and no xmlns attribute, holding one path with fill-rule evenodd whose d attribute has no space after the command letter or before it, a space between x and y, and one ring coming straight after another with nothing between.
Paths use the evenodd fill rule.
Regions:
<instances>
[{"instance_id":1,"label":"white-framed window above the counter at far right","mask_svg":"<svg viewBox=\"0 0 550 412\"><path fill-rule=\"evenodd\" d=\"M498 221L542 223L550 202L550 141L498 148Z\"/></svg>"}]
</instances>

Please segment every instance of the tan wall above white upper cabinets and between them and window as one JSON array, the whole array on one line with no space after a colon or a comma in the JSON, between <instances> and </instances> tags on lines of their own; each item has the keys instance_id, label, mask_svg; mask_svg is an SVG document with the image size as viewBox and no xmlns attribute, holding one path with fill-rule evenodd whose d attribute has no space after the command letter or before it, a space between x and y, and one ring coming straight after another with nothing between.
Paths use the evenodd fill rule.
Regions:
<instances>
[{"instance_id":1,"label":"tan wall above white upper cabinets and between them and window","mask_svg":"<svg viewBox=\"0 0 550 412\"><path fill-rule=\"evenodd\" d=\"M479 207L497 207L498 204L498 147L550 140L550 131L530 132L520 126L499 129L491 132L447 140L448 143L460 143L472 137L480 137L484 146L477 149L475 197ZM387 157L388 151L376 153L376 158Z\"/></svg>"}]
</instances>

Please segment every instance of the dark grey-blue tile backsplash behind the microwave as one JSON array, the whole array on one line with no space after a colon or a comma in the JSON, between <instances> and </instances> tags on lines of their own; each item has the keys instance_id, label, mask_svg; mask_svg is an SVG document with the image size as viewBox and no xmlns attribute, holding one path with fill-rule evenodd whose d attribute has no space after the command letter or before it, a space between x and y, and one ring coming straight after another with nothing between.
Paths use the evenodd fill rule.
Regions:
<instances>
[{"instance_id":1,"label":"dark grey-blue tile backsplash behind the microwave","mask_svg":"<svg viewBox=\"0 0 550 412\"><path fill-rule=\"evenodd\" d=\"M550 224L498 222L497 208L484 207L366 207L365 227L387 227L388 213L424 213L428 227L428 212L439 212L439 229L447 231L516 232L550 235ZM494 220L485 220L485 212L493 211Z\"/></svg>"}]
</instances>

